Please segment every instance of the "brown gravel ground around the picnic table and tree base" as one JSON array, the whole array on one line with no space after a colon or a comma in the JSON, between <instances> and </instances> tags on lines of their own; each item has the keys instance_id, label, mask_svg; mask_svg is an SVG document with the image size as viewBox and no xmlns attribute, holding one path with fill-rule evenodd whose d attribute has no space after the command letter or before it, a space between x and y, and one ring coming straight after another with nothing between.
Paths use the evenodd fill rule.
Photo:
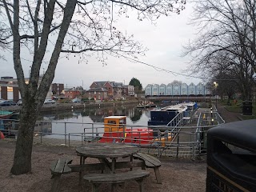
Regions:
<instances>
[{"instance_id":1,"label":"brown gravel ground around the picnic table and tree base","mask_svg":"<svg viewBox=\"0 0 256 192\"><path fill-rule=\"evenodd\" d=\"M73 164L79 163L74 148L65 146L34 146L32 153L32 173L11 175L10 168L14 158L15 142L0 140L0 191L50 191L50 162L62 156L73 158ZM86 162L95 162L93 158ZM206 162L205 160L188 160L175 158L162 158L160 174L162 184L157 184L154 170L150 171L150 177L145 178L144 187L146 192L167 191L205 191L206 190ZM78 186L78 173L63 175L59 191L91 191L89 182L83 181ZM110 185L102 184L99 191L110 191ZM126 182L125 187L117 187L115 191L138 191L138 184L134 181Z\"/></svg>"}]
</instances>

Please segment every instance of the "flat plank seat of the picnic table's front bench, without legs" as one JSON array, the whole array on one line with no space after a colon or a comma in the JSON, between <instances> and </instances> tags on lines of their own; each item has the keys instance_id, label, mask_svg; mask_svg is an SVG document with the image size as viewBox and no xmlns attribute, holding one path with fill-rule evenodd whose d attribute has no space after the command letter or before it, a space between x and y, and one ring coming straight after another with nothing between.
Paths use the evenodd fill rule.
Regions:
<instances>
[{"instance_id":1,"label":"flat plank seat of the picnic table's front bench, without legs","mask_svg":"<svg viewBox=\"0 0 256 192\"><path fill-rule=\"evenodd\" d=\"M140 170L116 174L86 174L83 178L92 183L122 183L126 180L141 179L149 175L150 172Z\"/></svg>"}]
</instances>

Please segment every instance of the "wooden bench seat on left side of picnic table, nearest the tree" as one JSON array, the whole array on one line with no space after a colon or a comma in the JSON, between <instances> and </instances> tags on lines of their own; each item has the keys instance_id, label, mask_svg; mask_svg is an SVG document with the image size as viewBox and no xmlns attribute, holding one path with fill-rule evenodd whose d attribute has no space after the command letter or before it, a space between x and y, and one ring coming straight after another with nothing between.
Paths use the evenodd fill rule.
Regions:
<instances>
[{"instance_id":1,"label":"wooden bench seat on left side of picnic table, nearest the tree","mask_svg":"<svg viewBox=\"0 0 256 192\"><path fill-rule=\"evenodd\" d=\"M59 158L58 160L55 160L51 163L50 171L52 174L52 178L54 178L53 185L51 186L52 192L55 192L58 190L58 183L59 179L61 178L62 174L70 174L71 169L68 164L72 162L72 159L70 158Z\"/></svg>"}]
</instances>

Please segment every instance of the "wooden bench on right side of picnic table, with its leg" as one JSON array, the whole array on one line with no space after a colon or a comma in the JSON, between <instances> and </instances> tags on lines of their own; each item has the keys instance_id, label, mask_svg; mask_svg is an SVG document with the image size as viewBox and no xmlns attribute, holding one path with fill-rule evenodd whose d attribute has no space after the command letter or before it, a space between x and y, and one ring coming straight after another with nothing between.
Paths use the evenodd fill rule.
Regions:
<instances>
[{"instance_id":1,"label":"wooden bench on right side of picnic table, with its leg","mask_svg":"<svg viewBox=\"0 0 256 192\"><path fill-rule=\"evenodd\" d=\"M137 153L133 155L134 158L140 159L142 161L144 161L146 168L154 168L154 174L155 177L157 178L157 183L162 183L162 179L160 176L160 172L159 172L159 167L161 166L161 162L159 161L158 158L155 158L153 156L151 156L150 154L143 154L143 153ZM145 170L145 167L142 169Z\"/></svg>"}]
</instances>

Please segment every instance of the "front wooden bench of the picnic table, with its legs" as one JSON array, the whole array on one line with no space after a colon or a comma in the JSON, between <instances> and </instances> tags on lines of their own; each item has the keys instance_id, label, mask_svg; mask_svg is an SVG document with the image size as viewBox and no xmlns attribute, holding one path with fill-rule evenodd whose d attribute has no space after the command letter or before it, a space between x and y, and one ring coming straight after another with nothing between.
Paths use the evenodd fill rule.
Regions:
<instances>
[{"instance_id":1,"label":"front wooden bench of the picnic table, with its legs","mask_svg":"<svg viewBox=\"0 0 256 192\"><path fill-rule=\"evenodd\" d=\"M98 187L102 183L112 184L111 191L114 191L114 184L124 184L124 182L126 182L127 180L132 179L138 182L139 191L143 192L143 179L148 177L149 175L150 172L147 172L146 170L133 170L117 174L86 174L83 178L86 179L86 181L91 182L93 184L92 192L97 192Z\"/></svg>"}]
</instances>

